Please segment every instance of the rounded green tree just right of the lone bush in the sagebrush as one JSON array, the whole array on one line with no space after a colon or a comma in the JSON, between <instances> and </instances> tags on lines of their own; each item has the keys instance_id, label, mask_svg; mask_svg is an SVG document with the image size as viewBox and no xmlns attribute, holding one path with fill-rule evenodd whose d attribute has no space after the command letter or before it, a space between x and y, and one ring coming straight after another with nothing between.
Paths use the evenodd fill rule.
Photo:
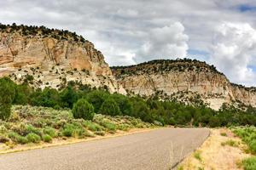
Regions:
<instances>
[{"instance_id":1,"label":"rounded green tree just right of the lone bush in the sagebrush","mask_svg":"<svg viewBox=\"0 0 256 170\"><path fill-rule=\"evenodd\" d=\"M99 113L103 115L116 116L120 115L121 111L119 109L119 105L117 105L113 99L108 98L102 103Z\"/></svg>"}]
</instances>

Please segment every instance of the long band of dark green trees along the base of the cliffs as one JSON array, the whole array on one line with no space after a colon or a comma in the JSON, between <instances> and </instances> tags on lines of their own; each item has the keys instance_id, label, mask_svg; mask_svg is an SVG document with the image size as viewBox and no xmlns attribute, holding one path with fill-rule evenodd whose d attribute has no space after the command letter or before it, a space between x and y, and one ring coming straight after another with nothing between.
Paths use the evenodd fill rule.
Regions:
<instances>
[{"instance_id":1,"label":"long band of dark green trees along the base of the cliffs","mask_svg":"<svg viewBox=\"0 0 256 170\"><path fill-rule=\"evenodd\" d=\"M96 113L110 116L134 116L143 122L158 125L194 127L256 125L256 109L253 107L240 110L230 105L223 105L219 111L213 111L204 105L183 105L169 100L160 101L155 98L143 99L140 96L109 94L104 89L90 88L75 82L68 83L67 88L59 91L54 88L33 89L27 83L17 85L7 77L0 79L0 83L5 89L5 93L2 90L0 92L3 93L0 96L0 102L6 102L8 108L10 105L34 105L51 107L55 110L73 109L75 118L85 120L91 120ZM7 116L3 116L3 113L7 113ZM0 118L6 120L9 117L9 110L2 109L1 115Z\"/></svg>"}]
</instances>

